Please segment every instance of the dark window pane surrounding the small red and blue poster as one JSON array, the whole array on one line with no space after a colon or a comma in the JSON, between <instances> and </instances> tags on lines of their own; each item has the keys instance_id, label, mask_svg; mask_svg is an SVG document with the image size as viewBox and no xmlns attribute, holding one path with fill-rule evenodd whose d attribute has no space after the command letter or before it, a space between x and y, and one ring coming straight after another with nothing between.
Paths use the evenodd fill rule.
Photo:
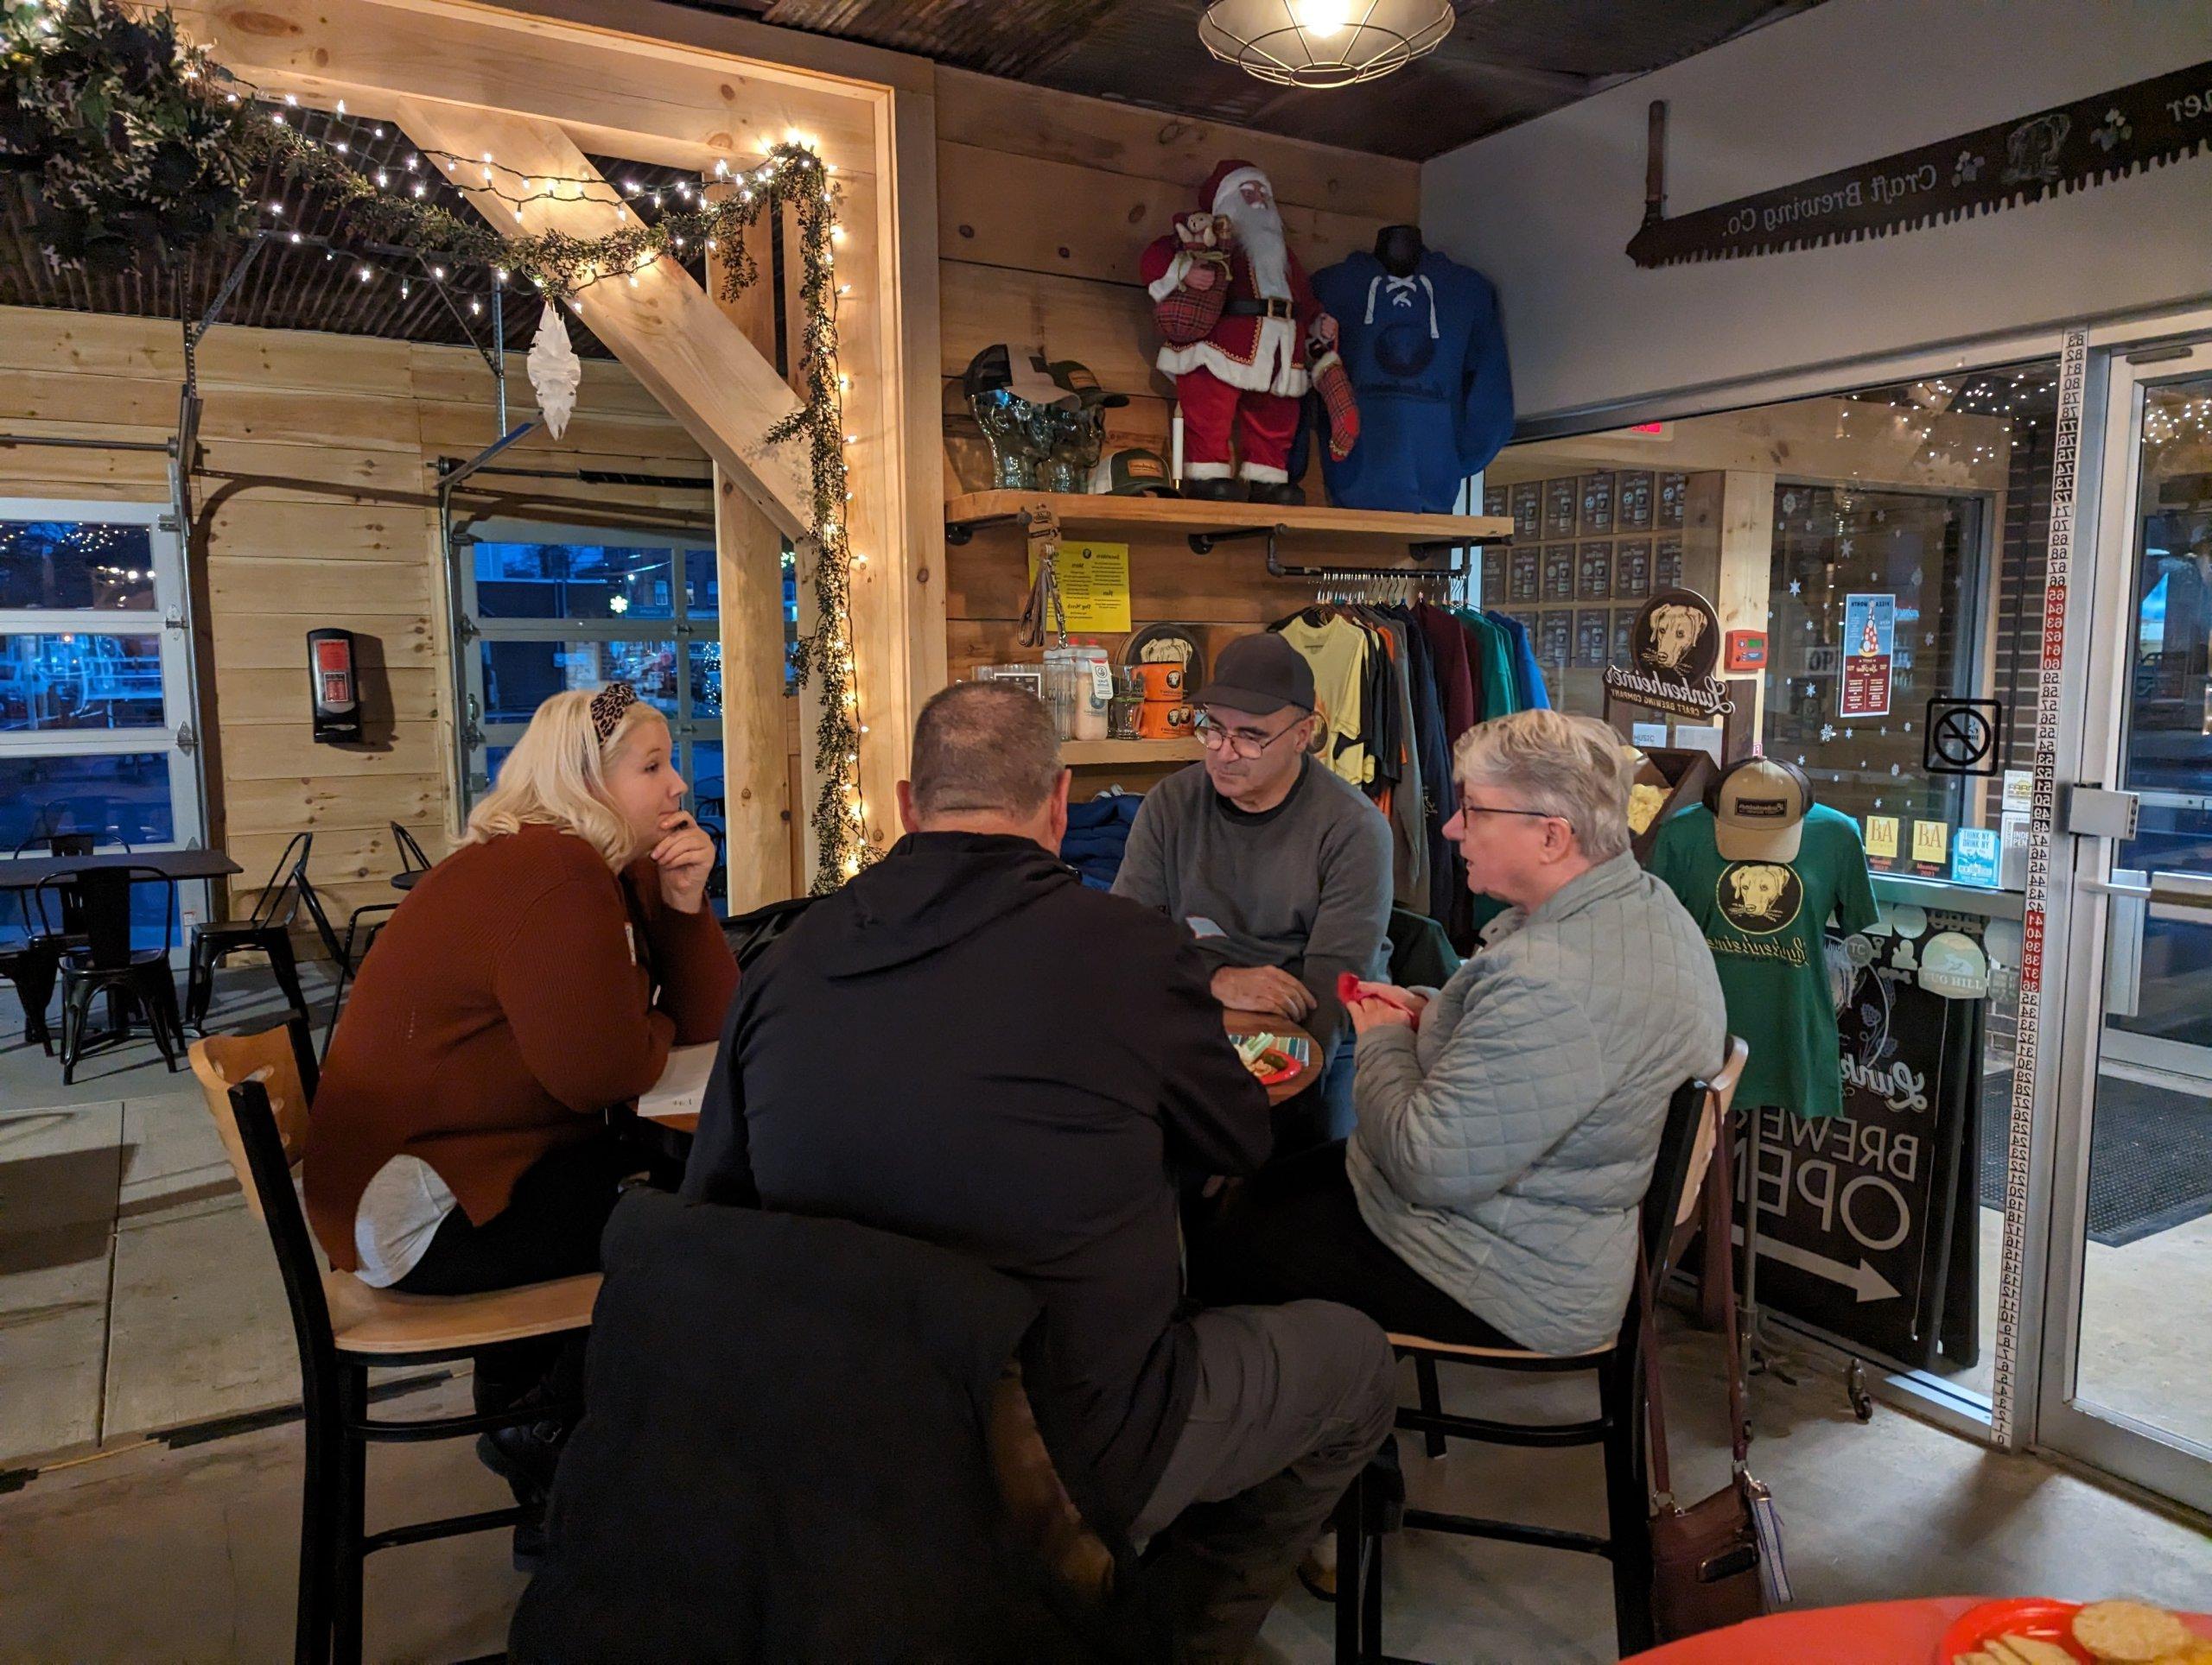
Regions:
<instances>
[{"instance_id":1,"label":"dark window pane surrounding the small red and blue poster","mask_svg":"<svg viewBox=\"0 0 2212 1665\"><path fill-rule=\"evenodd\" d=\"M1854 820L1958 820L1960 776L1924 772L1920 730L1929 699L1969 692L1980 515L1978 498L1774 489L1767 752L1801 763L1820 803ZM1849 595L1896 608L1889 694L1860 699L1860 710L1887 705L1874 716L1851 716L1843 699L1845 661L1860 650L1843 639Z\"/></svg>"}]
</instances>

